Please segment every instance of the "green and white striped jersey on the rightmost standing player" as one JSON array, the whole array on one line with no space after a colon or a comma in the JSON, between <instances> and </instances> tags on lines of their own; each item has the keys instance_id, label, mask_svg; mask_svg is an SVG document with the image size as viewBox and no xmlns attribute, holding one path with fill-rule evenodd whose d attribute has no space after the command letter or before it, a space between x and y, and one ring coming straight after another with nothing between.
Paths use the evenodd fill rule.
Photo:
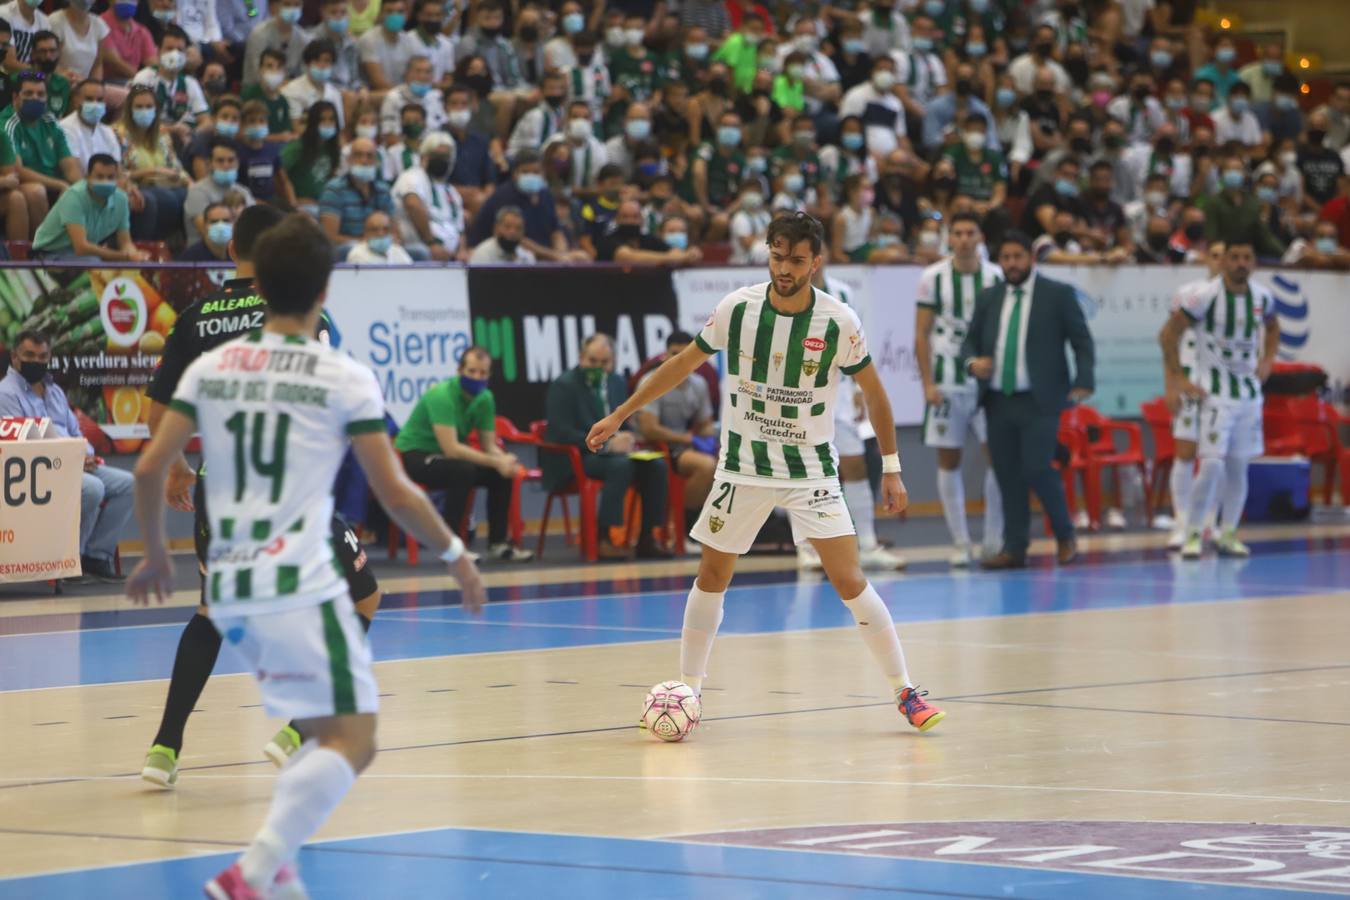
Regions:
<instances>
[{"instance_id":1,"label":"green and white striped jersey on the rightmost standing player","mask_svg":"<svg viewBox=\"0 0 1350 900\"><path fill-rule=\"evenodd\" d=\"M1234 294L1214 278L1180 298L1181 312L1196 332L1195 368L1191 381L1224 399L1260 399L1256 376L1268 321L1274 318L1270 289L1254 281Z\"/></svg>"}]
</instances>

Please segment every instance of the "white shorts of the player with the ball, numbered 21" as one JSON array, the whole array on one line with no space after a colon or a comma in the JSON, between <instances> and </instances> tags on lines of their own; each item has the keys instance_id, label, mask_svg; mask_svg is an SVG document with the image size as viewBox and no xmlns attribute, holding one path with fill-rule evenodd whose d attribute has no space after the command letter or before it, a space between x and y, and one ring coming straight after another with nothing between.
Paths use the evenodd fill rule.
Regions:
<instances>
[{"instance_id":1,"label":"white shorts of the player with the ball, numbered 21","mask_svg":"<svg viewBox=\"0 0 1350 900\"><path fill-rule=\"evenodd\" d=\"M792 522L794 544L855 533L838 482L822 487L737 484L718 472L690 534L714 551L738 556L753 546L774 507L783 509Z\"/></svg>"}]
</instances>

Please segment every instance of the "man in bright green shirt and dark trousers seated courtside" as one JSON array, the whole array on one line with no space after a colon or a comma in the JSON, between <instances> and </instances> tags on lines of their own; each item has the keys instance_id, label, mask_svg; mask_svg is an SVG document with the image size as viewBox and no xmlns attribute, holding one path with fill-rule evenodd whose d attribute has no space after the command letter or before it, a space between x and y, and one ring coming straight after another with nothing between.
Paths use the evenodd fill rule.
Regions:
<instances>
[{"instance_id":1,"label":"man in bright green shirt and dark trousers seated courtside","mask_svg":"<svg viewBox=\"0 0 1350 900\"><path fill-rule=\"evenodd\" d=\"M433 385L413 406L394 445L408 476L429 490L446 491L446 522L467 544L464 511L475 487L487 488L487 555L524 563L531 551L508 540L512 491L520 461L497 445L497 402L487 381L493 358L470 347L459 358L459 376ZM468 437L478 433L477 449Z\"/></svg>"}]
</instances>

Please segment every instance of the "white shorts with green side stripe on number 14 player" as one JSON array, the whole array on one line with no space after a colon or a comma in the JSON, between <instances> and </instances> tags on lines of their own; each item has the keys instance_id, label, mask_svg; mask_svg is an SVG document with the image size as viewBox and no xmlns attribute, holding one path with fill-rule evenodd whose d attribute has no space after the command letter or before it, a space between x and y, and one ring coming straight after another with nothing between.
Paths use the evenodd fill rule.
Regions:
<instances>
[{"instance_id":1,"label":"white shorts with green side stripe on number 14 player","mask_svg":"<svg viewBox=\"0 0 1350 900\"><path fill-rule=\"evenodd\" d=\"M313 719L379 708L370 641L350 598L211 621L252 669L267 715Z\"/></svg>"}]
</instances>

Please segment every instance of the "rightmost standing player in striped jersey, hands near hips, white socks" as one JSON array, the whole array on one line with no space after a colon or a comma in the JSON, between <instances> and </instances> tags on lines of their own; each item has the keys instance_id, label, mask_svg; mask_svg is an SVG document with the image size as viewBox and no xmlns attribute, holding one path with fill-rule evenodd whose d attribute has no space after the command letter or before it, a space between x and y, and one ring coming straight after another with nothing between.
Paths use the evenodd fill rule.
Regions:
<instances>
[{"instance_id":1,"label":"rightmost standing player in striped jersey, hands near hips, white socks","mask_svg":"<svg viewBox=\"0 0 1350 900\"><path fill-rule=\"evenodd\" d=\"M1218 551L1222 556L1250 556L1237 537L1237 528L1247 499L1247 467L1265 449L1261 383L1280 348L1274 296L1251 281L1254 266L1251 242L1230 240L1220 275L1183 297L1162 329L1169 393L1200 401L1200 470L1191 488L1183 559L1199 559L1204 552L1203 528L1220 501L1220 484ZM1188 328L1195 329L1196 337L1189 375L1180 355Z\"/></svg>"}]
</instances>

